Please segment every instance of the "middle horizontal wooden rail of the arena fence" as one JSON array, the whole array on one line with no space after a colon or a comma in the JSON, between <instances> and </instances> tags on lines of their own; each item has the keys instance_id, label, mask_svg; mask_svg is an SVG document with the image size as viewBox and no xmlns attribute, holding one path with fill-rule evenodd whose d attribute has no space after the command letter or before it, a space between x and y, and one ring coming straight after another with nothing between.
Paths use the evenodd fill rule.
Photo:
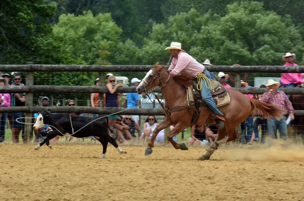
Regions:
<instances>
[{"instance_id":1,"label":"middle horizontal wooden rail of the arena fence","mask_svg":"<svg viewBox=\"0 0 304 201\"><path fill-rule=\"evenodd\" d=\"M234 88L243 94L263 94L267 88ZM304 88L280 88L285 94L304 94ZM54 86L54 85L32 85L32 86L1 86L0 93L108 93L106 86ZM117 93L135 93L135 87L121 87ZM156 92L161 92L160 89Z\"/></svg>"}]
</instances>

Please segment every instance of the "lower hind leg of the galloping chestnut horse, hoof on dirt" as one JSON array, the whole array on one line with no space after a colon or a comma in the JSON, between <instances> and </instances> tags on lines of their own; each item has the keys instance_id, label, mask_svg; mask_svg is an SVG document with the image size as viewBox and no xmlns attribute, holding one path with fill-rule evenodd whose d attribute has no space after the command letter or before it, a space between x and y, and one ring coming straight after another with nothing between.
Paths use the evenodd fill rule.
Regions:
<instances>
[{"instance_id":1,"label":"lower hind leg of the galloping chestnut horse, hoof on dirt","mask_svg":"<svg viewBox=\"0 0 304 201\"><path fill-rule=\"evenodd\" d=\"M236 129L234 129L235 131ZM221 144L224 144L227 142L227 137L226 135L226 128L224 127L221 130L218 130L217 138L216 141L213 142L207 149L206 153L201 155L198 160L208 160L210 156L213 154L213 152L217 149L217 147Z\"/></svg>"}]
</instances>

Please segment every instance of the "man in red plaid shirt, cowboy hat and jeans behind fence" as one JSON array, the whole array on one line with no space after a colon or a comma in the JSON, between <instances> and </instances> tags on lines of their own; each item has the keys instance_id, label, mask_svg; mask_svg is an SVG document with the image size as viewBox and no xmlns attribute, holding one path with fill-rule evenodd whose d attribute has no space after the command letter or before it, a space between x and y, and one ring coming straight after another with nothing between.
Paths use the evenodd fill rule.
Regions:
<instances>
[{"instance_id":1,"label":"man in red plaid shirt, cowboy hat and jeans behind fence","mask_svg":"<svg viewBox=\"0 0 304 201\"><path fill-rule=\"evenodd\" d=\"M261 101L265 103L270 103L273 105L279 106L281 109L287 109L289 116L294 119L293 115L293 107L291 102L287 98L286 94L282 91L278 91L277 88L280 86L279 82L275 82L273 79L268 80L268 84L265 85L268 87L269 91L265 92L262 95ZM277 129L280 132L280 138L286 139L287 138L287 125L285 117L277 120L277 119L270 119L268 120L268 134L270 137L275 138Z\"/></svg>"}]
</instances>

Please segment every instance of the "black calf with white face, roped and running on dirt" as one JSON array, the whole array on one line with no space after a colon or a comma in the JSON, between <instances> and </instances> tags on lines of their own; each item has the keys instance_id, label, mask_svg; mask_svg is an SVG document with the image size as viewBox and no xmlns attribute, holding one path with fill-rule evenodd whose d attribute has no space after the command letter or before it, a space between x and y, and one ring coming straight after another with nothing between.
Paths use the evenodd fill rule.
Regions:
<instances>
[{"instance_id":1,"label":"black calf with white face, roped and running on dirt","mask_svg":"<svg viewBox=\"0 0 304 201\"><path fill-rule=\"evenodd\" d=\"M108 133L109 126L108 126L107 117L100 118L92 122L92 120L99 117L73 116L67 113L51 114L50 109L41 112L37 117L36 123L34 124L33 128L39 129L44 127L44 125L46 124L57 128L61 133L57 131L55 128L53 128L53 131L50 131L47 137L45 138L45 140L39 145L35 146L34 150L38 150L45 143L49 146L49 148L52 148L52 145L50 144L51 139L53 139L56 136L59 137L66 135L70 136L73 132L76 132L72 135L73 137L83 138L83 137L94 136L102 144L103 151L100 158L105 157L105 152L108 142L113 146L115 146L115 148L117 148L117 150L120 153L127 153L118 146L116 141L111 136L109 136ZM87 125L88 123L90 124Z\"/></svg>"}]
</instances>

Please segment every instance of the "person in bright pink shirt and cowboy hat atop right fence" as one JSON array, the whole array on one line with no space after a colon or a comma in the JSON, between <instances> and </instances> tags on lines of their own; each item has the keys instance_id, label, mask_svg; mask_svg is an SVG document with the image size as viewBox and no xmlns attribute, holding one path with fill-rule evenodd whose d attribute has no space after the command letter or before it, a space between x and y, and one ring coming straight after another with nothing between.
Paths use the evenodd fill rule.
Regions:
<instances>
[{"instance_id":1,"label":"person in bright pink shirt and cowboy hat atop right fence","mask_svg":"<svg viewBox=\"0 0 304 201\"><path fill-rule=\"evenodd\" d=\"M287 52L282 59L286 61L284 66L298 66L297 64L293 63L293 60L295 60L295 54L291 54ZM281 75L281 87L283 88L293 88L296 87L297 85L300 85L304 83L302 80L302 73L298 72L286 72L282 73Z\"/></svg>"}]
</instances>

